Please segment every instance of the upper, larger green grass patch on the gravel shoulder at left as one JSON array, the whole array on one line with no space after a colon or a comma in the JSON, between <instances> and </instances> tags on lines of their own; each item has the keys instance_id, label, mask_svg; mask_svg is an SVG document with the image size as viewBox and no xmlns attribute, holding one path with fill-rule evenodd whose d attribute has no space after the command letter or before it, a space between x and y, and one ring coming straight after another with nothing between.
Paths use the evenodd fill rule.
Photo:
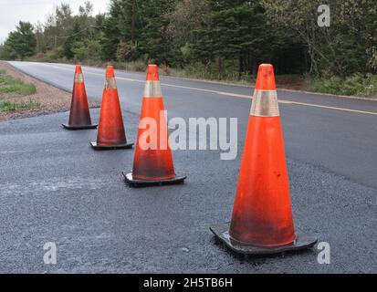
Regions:
<instances>
[{"instance_id":1,"label":"upper, larger green grass patch on the gravel shoulder at left","mask_svg":"<svg viewBox=\"0 0 377 292\"><path fill-rule=\"evenodd\" d=\"M12 93L19 96L37 93L33 84L27 84L19 79L6 75L4 69L0 70L0 93Z\"/></svg>"}]
</instances>

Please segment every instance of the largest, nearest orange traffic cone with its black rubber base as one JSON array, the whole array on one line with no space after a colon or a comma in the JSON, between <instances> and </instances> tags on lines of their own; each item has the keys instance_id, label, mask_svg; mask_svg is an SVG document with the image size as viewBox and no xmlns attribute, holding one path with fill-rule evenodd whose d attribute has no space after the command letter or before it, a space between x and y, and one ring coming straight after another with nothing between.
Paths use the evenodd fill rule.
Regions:
<instances>
[{"instance_id":1,"label":"largest, nearest orange traffic cone with its black rubber base","mask_svg":"<svg viewBox=\"0 0 377 292\"><path fill-rule=\"evenodd\" d=\"M295 235L274 68L259 67L231 224L212 232L241 254L304 249L317 238Z\"/></svg>"}]
</instances>

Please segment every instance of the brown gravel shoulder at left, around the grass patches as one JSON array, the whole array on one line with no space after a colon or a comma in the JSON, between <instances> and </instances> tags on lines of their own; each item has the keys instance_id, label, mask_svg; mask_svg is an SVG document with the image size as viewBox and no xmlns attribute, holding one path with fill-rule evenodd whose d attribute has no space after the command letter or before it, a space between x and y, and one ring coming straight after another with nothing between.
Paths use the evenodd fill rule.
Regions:
<instances>
[{"instance_id":1,"label":"brown gravel shoulder at left, around the grass patches","mask_svg":"<svg viewBox=\"0 0 377 292\"><path fill-rule=\"evenodd\" d=\"M57 89L45 82L37 80L36 78L32 78L25 73L18 71L16 68L6 62L0 62L0 70L6 70L6 75L20 79L27 84L33 84L37 89L36 94L26 96L15 95L14 93L1 93L0 101L17 103L28 103L32 101L35 102L37 106L33 107L32 109L0 111L0 120L29 118L53 112L68 111L70 109L70 102L72 98L70 93ZM98 104L90 102L89 106L90 108L95 108L98 107Z\"/></svg>"}]
</instances>

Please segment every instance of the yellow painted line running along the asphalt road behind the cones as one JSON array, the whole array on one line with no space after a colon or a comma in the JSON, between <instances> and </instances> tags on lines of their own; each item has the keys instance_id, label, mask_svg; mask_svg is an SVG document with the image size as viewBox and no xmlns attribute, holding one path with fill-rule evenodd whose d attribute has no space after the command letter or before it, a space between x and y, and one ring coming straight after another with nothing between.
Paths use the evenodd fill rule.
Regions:
<instances>
[{"instance_id":1,"label":"yellow painted line running along the asphalt road behind the cones","mask_svg":"<svg viewBox=\"0 0 377 292\"><path fill-rule=\"evenodd\" d=\"M52 65L47 65L47 66L50 66L50 67L53 67L53 68L61 68L61 67L52 66ZM68 68L63 68L63 69L68 69ZM90 72L89 70L87 70L85 72L85 74L98 75L98 76L103 75L103 74L100 74L100 73ZM145 82L144 80L138 80L138 79L132 79L132 78L117 77L116 79L130 81L130 82L140 82L140 83ZM217 91L217 90L211 90L211 89L197 89L197 88L186 87L186 86L182 86L182 85L173 85L173 84L166 84L166 83L162 83L161 85L165 86L165 87L171 87L171 88L177 88L177 89L189 89L189 90L202 91L202 92L207 92L207 93L214 93L214 94L217 94L217 95L223 95L223 96L234 97L234 98L252 99L251 93L250 93L250 96L247 96L247 95L236 94L236 93L232 93L232 92ZM319 108L319 109L325 109L325 110L340 110L340 111L346 111L346 112L352 112L352 113L361 113L361 114L365 114L365 115L377 116L377 112L373 112L373 111L351 110L351 109L330 107L330 106L324 106L324 105L320 105L320 104L298 102L298 101L291 101L291 100L285 100L285 99L279 99L278 102L282 103L282 104L293 104L293 105L304 106L304 107L312 107L312 108Z\"/></svg>"}]
</instances>

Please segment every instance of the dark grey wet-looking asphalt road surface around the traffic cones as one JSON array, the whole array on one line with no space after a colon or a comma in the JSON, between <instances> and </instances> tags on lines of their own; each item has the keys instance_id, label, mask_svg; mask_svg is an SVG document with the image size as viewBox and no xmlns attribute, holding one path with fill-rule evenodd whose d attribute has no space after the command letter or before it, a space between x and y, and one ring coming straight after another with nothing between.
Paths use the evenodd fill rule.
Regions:
<instances>
[{"instance_id":1,"label":"dark grey wet-looking asphalt road surface around the traffic cones","mask_svg":"<svg viewBox=\"0 0 377 292\"><path fill-rule=\"evenodd\" d=\"M74 67L12 62L71 90ZM100 101L104 69L84 68ZM117 71L130 141L135 141L144 74ZM169 118L238 118L238 152L175 151L183 185L131 189L121 171L133 151L95 152L96 130L70 132L68 113L0 123L0 272L351 273L377 271L377 102L279 91L293 213L298 231L328 242L319 251L240 258L216 245L209 226L229 220L252 89L162 78ZM91 110L98 120L99 110ZM43 245L58 246L58 264Z\"/></svg>"}]
</instances>

